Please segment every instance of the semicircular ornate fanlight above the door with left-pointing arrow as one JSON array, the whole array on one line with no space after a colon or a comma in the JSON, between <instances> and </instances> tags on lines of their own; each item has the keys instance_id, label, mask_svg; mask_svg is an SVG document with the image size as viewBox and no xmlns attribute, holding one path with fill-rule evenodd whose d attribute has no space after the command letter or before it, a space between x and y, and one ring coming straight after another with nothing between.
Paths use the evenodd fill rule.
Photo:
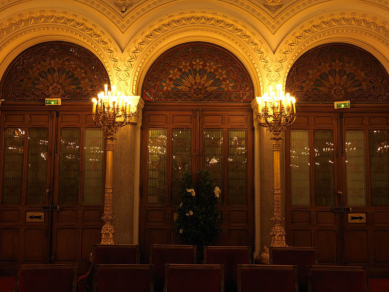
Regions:
<instances>
[{"instance_id":1,"label":"semicircular ornate fanlight above the door with left-pointing arrow","mask_svg":"<svg viewBox=\"0 0 389 292\"><path fill-rule=\"evenodd\" d=\"M72 43L46 42L14 59L1 80L0 93L5 100L90 101L102 84L109 84L109 77L95 55Z\"/></svg>"}]
</instances>

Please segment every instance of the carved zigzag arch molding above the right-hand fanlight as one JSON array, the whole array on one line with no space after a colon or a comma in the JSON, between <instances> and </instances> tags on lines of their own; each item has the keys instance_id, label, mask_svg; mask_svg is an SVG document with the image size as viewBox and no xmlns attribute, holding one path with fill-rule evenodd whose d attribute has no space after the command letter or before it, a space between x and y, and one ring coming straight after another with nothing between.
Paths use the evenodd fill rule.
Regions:
<instances>
[{"instance_id":1,"label":"carved zigzag arch molding above the right-hand fanlight","mask_svg":"<svg viewBox=\"0 0 389 292\"><path fill-rule=\"evenodd\" d=\"M285 37L287 41L276 55L277 61L274 63L273 73L278 80L286 81L287 73L298 56L309 48L321 44L320 38L328 35L336 36L345 33L355 35L354 39L360 39L361 35L369 37L373 42L383 44L389 48L389 27L385 21L366 15L336 15L320 17L319 21L309 25L299 27L291 32L292 37ZM346 39L345 39L346 41Z\"/></svg>"}]
</instances>

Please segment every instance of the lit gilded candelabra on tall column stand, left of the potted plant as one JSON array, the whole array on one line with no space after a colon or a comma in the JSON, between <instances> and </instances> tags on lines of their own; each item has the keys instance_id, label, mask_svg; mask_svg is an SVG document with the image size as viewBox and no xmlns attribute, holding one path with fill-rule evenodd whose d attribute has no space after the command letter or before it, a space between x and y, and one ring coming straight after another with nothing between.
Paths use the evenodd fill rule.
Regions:
<instances>
[{"instance_id":1,"label":"lit gilded candelabra on tall column stand, left of the potted plant","mask_svg":"<svg viewBox=\"0 0 389 292\"><path fill-rule=\"evenodd\" d=\"M101 219L104 225L101 229L101 244L114 244L115 233L111 221L112 214L112 157L114 134L127 124L136 123L138 114L138 102L140 96L124 96L116 87L98 94L98 99L92 99L92 117L96 125L101 126L106 132L106 184L104 190L104 213Z\"/></svg>"}]
</instances>

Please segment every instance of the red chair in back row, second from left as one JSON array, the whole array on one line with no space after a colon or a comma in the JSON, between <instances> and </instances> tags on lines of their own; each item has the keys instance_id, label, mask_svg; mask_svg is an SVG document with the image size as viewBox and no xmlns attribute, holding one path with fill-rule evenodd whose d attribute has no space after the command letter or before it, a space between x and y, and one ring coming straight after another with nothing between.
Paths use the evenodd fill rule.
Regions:
<instances>
[{"instance_id":1,"label":"red chair in back row, second from left","mask_svg":"<svg viewBox=\"0 0 389 292\"><path fill-rule=\"evenodd\" d=\"M151 244L149 263L154 265L154 290L163 291L165 264L195 264L195 245Z\"/></svg>"}]
</instances>

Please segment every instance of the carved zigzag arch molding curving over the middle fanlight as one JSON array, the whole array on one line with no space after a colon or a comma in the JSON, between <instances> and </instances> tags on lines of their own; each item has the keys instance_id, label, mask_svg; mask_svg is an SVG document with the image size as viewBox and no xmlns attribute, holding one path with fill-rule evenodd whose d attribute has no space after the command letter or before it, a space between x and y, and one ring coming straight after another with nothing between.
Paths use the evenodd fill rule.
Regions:
<instances>
[{"instance_id":1,"label":"carved zigzag arch molding curving over the middle fanlight","mask_svg":"<svg viewBox=\"0 0 389 292\"><path fill-rule=\"evenodd\" d=\"M211 27L211 28L210 28ZM158 39L159 45L172 35L182 34L183 36L190 31L204 31L211 34L216 34L220 37L227 38L226 40L232 40L235 43L245 44L249 58L252 60L256 67L257 75L261 75L259 72L259 63L264 64L265 71L268 67L269 61L266 59L267 50L263 48L263 43L258 39L256 34L249 31L247 27L234 23L232 19L223 18L215 15L176 15L160 20L158 24L151 26L151 28L141 34L136 40L132 41L132 46L126 50L128 58L124 61L122 76L130 76L130 72L136 68L137 73L135 79L139 74L139 67L144 62L144 59L153 51L151 44L154 47L157 45L156 40ZM230 34L230 36L229 36ZM233 37L232 37L233 36ZM243 46L240 46L244 48ZM166 49L168 49L167 47ZM145 49L147 51L145 51ZM254 57L255 56L255 57ZM139 64L140 63L140 64ZM133 88L136 88L136 82L133 84Z\"/></svg>"}]
</instances>

